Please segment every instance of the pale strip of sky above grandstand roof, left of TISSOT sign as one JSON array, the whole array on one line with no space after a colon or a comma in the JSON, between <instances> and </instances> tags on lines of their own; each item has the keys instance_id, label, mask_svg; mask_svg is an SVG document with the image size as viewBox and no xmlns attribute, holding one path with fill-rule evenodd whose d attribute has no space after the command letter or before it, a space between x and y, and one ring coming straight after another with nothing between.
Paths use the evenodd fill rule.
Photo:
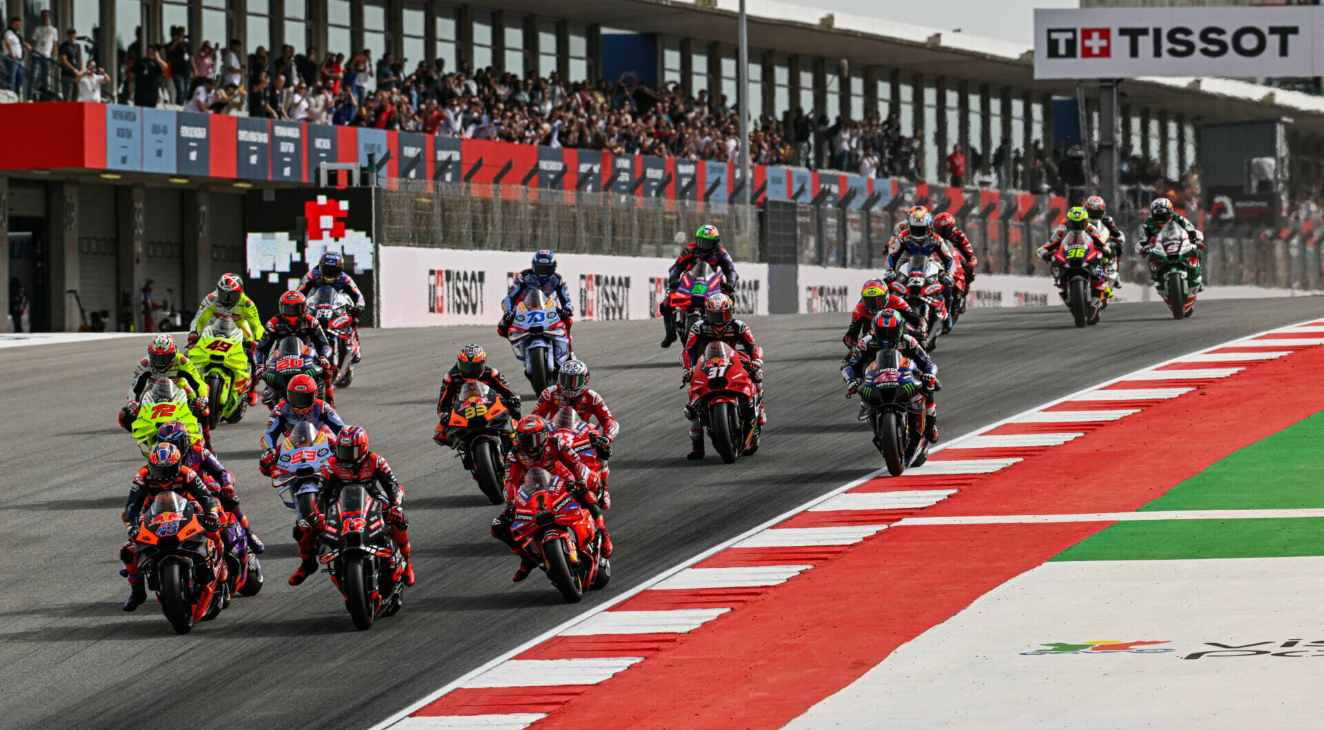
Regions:
<instances>
[{"instance_id":1,"label":"pale strip of sky above grandstand roof, left of TISSOT sign","mask_svg":"<svg viewBox=\"0 0 1324 730\"><path fill-rule=\"evenodd\" d=\"M923 3L879 3L878 0L789 0L870 17L886 17L939 30L960 28L963 33L1034 45L1034 8L1076 8L1078 0L924 0ZM902 9L904 8L904 9ZM900 11L900 12L898 12Z\"/></svg>"}]
</instances>

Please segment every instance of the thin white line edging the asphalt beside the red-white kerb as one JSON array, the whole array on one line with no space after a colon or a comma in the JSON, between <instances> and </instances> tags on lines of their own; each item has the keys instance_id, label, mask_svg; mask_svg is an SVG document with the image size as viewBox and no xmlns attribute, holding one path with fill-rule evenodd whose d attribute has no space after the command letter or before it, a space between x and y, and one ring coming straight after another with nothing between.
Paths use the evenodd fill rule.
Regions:
<instances>
[{"instance_id":1,"label":"thin white line edging the asphalt beside the red-white kerb","mask_svg":"<svg viewBox=\"0 0 1324 730\"><path fill-rule=\"evenodd\" d=\"M1317 320L1319 320L1319 317L1311 317L1308 320L1298 323L1296 327L1299 327L1301 324L1311 323L1311 321L1317 321ZM1287 325L1287 327L1292 327L1292 325ZM1259 335L1266 335L1266 333L1270 333L1270 332L1279 332L1283 328L1266 329L1264 332L1262 332ZM1251 335L1250 337L1256 337L1259 335ZM1153 368L1162 368L1164 365L1170 365L1173 362L1181 362L1184 357L1190 357L1190 354L1204 354L1204 353L1207 353L1209 350L1222 349L1222 348L1227 348L1227 346L1242 346L1241 345L1242 341L1243 340L1234 340L1231 343L1221 343L1221 344L1217 344L1217 345L1213 345L1213 346L1209 346L1209 348L1205 348L1205 349L1201 349L1201 350L1196 350L1194 353L1186 353L1186 354L1182 354L1182 356L1178 356L1178 357L1173 357L1170 360L1165 360L1162 362L1157 362L1155 365L1149 365L1148 368L1141 368L1141 370L1149 370L1149 369L1153 369ZM1321 344L1324 344L1324 340L1321 340ZM1054 407L1057 405L1066 403L1066 402L1070 402L1070 401L1079 401L1080 397L1083 394L1086 394L1086 393L1098 390L1100 387L1107 387L1107 386L1110 386L1112 384L1121 382L1124 380L1127 380L1127 376L1120 376L1120 377L1116 377L1116 378L1111 378L1111 380L1107 380L1107 381L1091 385L1088 387L1082 387L1080 390L1076 390L1075 393L1070 393L1070 394L1063 395L1061 398L1055 398L1053 401L1049 401L1047 403L1035 406L1033 409L1023 410L1023 411L1021 411L1018 414L1014 414L1014 415L1012 415L1009 418L1004 418L1001 421L994 421L993 423L989 423L988 426L984 426L981 428L976 428L976 430L973 430L973 431L970 431L968 434L957 436L956 439L953 439L953 440L951 440L948 443L939 444L939 446L933 447L932 450L929 450L929 452L931 454L936 454L936 452L943 451L945 448L951 448L951 447L953 447L953 446L956 446L956 444L959 444L959 443L961 443L961 442L964 442L967 439L970 439L970 438L974 438L974 436L978 436L978 435L984 435L984 434L986 434L986 432L989 432L989 431L992 431L992 430L994 430L994 428L997 428L1000 426L1004 426L1006 423L1013 423L1013 422L1022 422L1023 423L1023 422L1026 422L1023 419L1030 418L1034 414L1043 411L1045 409L1051 409L1051 407ZM564 623L561 623L561 624L559 624L556 627L552 627L551 629L544 631L543 633L540 633L540 635L530 639L528 641L524 641L523 644L520 644L520 645L518 645L518 647L507 651L506 653L489 660L482 667L478 667L477 669L470 670L469 673L461 676L459 678L457 678L457 680L454 680L454 681L451 681L451 682L441 686L440 689L429 693L428 696L420 698L418 701L410 704L409 706L406 706L406 708L396 711L391 717L388 717L388 718L383 719L381 722L379 722L377 725L372 726L369 730L385 730L385 729L392 727L392 726L401 727L404 725L397 725L397 723L400 723L400 721L409 718L410 714L421 710L422 708L426 708L432 702L436 702L438 698L444 697L446 693L451 692L453 689L457 689L459 686L465 686L463 682L469 681L471 677L475 677L475 676L478 676L478 674L481 674L481 673L491 669L493 667L496 667L496 665L502 664L503 661L510 660L510 657L518 656L519 653L522 653L524 651L528 651L528 649L531 649L531 648L542 644L543 641L547 641L548 639L551 639L553 636L560 635L563 631L568 629L569 627L572 627L572 626L575 626L575 624L577 624L580 622L587 620L589 616L593 616L596 614L606 611L606 610L612 608L613 606L616 606L618 603L624 603L625 600L629 600L629 599L634 598L636 595L638 595L638 594L641 594L641 592L643 592L646 590L654 588L661 582L663 582L667 578L670 578L670 577L681 573L682 570L688 569L694 563L704 561L704 559L707 559L707 558L710 558L710 557L712 557L712 555L715 555L715 554L726 550L727 548L731 548L732 545L735 545L735 544L737 544L737 542L740 542L743 540L747 540L747 538L749 538L749 537L752 537L752 536L755 536L755 534L757 534L757 533L760 533L763 530L767 530L767 529L769 529L769 528L772 528L772 526L775 526L775 525L777 525L780 522L784 522L784 521L794 517L796 514L800 514L800 513L802 513L805 510L813 509L816 505L818 505L818 504L821 504L824 501L828 501L829 499L831 499L831 497L834 497L837 495L845 493L849 489L854 489L855 487L859 487L861 484L865 484L866 481L876 479L876 477L882 476L883 473L886 473L886 469L876 469L876 471L874 471L871 473L867 473L867 475L865 475L865 476L862 476L862 477L859 477L859 479L857 479L854 481L849 481L846 484L842 484L841 487L837 487L835 489L831 489L831 491L829 491L829 492L826 492L826 493L824 493L824 495L821 495L821 496L818 496L816 499L812 499L812 500L809 500L808 503L805 503L805 504L802 504L800 507L788 509L786 512L784 512L784 513L781 513L781 514L779 514L779 516L768 520L767 522L763 522L761 525L756 525L756 526L753 526L753 528L751 528L751 529L748 529L748 530L745 530L745 532L743 532L743 533L732 537L731 540L727 540L726 542L715 545L715 546L712 546L712 548L710 548L710 549L699 553L698 555L687 558L687 559L682 561L679 565L673 566L670 570L665 570L665 571L654 575L653 578L649 578L647 581L643 581L638 586L634 586L633 588L630 588L630 590L628 590L625 592L621 592L621 594L618 594L618 595L616 595L616 596L613 596L610 599L604 600L602 603L600 603L600 604L589 608L584 614L580 614L579 616L575 616L575 618L572 618L572 619L569 619L569 620L567 620L567 622L564 622ZM404 726L404 727L408 727L408 726ZM414 727L420 727L420 726L414 725ZM422 727L426 727L426 726L422 726Z\"/></svg>"}]
</instances>

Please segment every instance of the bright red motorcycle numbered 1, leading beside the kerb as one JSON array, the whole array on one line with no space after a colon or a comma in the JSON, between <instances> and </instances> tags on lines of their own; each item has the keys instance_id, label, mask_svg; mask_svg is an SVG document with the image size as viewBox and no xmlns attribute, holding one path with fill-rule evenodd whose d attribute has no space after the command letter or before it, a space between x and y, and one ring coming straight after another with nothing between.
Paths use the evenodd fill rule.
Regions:
<instances>
[{"instance_id":1,"label":"bright red motorcycle numbered 1, leading beside the kerb","mask_svg":"<svg viewBox=\"0 0 1324 730\"><path fill-rule=\"evenodd\" d=\"M612 579L612 563L602 557L602 536L565 489L561 477L532 468L515 495L511 536L561 592L567 603L579 603L584 591L601 588Z\"/></svg>"}]
</instances>

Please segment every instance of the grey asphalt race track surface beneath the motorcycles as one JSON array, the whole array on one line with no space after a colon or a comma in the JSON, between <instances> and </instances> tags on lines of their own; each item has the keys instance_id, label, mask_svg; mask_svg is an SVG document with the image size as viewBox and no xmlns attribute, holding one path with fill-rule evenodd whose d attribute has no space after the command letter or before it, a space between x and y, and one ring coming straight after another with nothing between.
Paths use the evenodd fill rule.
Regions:
<instances>
[{"instance_id":1,"label":"grey asphalt race track surface beneath the motorcycles","mask_svg":"<svg viewBox=\"0 0 1324 730\"><path fill-rule=\"evenodd\" d=\"M956 435L1094 382L1307 317L1324 299L1200 303L1173 321L1156 303L1120 304L1075 329L1064 308L970 312L935 353L941 428ZM176 636L154 600L134 614L118 575L119 510L140 459L114 423L142 340L0 350L0 727L365 727L601 598L880 466L837 360L845 315L752 317L767 350L759 455L686 462L678 350L657 323L583 323L576 350L622 423L612 460L614 577L567 606L487 536L496 512L458 459L430 440L438 378L458 345L514 357L491 328L373 331L346 421L368 428L408 489L418 583L405 606L356 632L324 575L298 588L293 512L256 468L262 419L224 426L267 542L267 585L214 622ZM518 376L520 390L530 393ZM1127 468L1119 464L1119 468Z\"/></svg>"}]
</instances>

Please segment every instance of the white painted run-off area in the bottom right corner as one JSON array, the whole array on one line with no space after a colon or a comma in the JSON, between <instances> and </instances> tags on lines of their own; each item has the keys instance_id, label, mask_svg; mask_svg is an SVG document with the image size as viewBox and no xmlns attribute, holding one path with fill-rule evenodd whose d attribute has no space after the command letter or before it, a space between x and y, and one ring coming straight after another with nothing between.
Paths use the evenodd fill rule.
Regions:
<instances>
[{"instance_id":1,"label":"white painted run-off area in the bottom right corner","mask_svg":"<svg viewBox=\"0 0 1324 730\"><path fill-rule=\"evenodd\" d=\"M1321 557L1045 563L902 645L786 730L1320 727L1324 656L1315 655L1324 641L1309 644L1324 639L1321 575ZM1139 653L1023 653L1090 641L1166 643ZM1174 651L1152 651L1165 648Z\"/></svg>"}]
</instances>

